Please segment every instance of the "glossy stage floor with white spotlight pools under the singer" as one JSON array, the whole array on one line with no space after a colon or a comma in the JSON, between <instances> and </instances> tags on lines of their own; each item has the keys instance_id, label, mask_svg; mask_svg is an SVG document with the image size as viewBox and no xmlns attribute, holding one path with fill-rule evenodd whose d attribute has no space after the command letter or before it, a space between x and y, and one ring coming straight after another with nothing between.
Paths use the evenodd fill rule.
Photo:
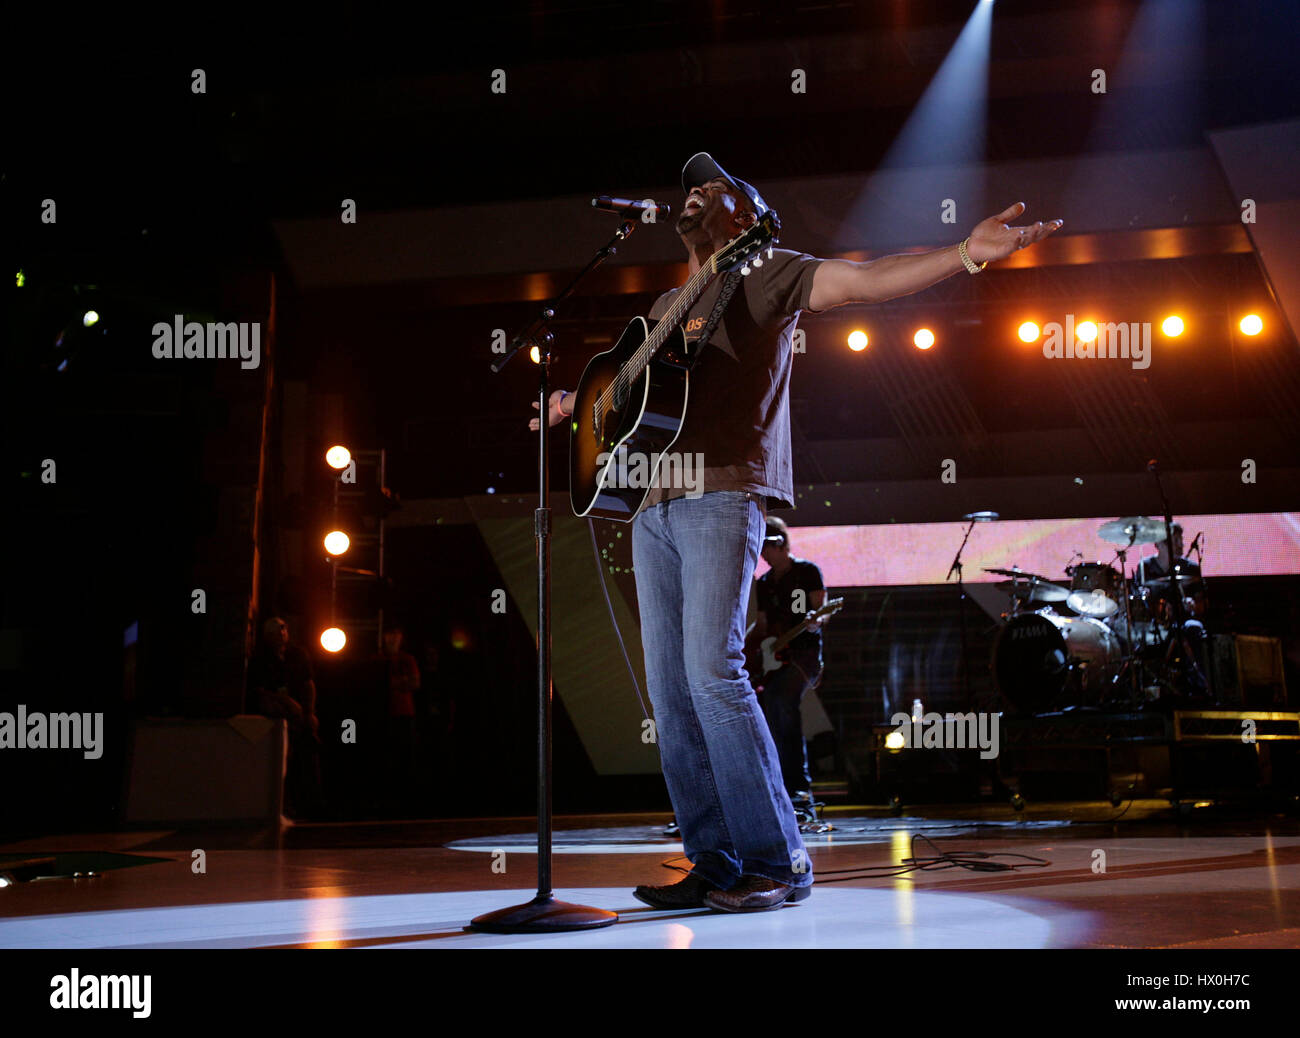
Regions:
<instances>
[{"instance_id":1,"label":"glossy stage floor with white spotlight pools under the singer","mask_svg":"<svg viewBox=\"0 0 1300 1038\"><path fill-rule=\"evenodd\" d=\"M1109 805L1037 808L1030 817L1006 808L923 813L831 812L836 829L806 836L818 877L811 898L751 914L658 912L632 896L637 883L676 877L660 866L681 852L662 832L666 814L558 818L556 896L615 911L619 922L528 937L463 927L536 894L529 818L30 839L0 844L0 855L116 852L165 861L113 868L121 860L104 858L96 878L0 888L0 947L1300 947L1294 817L1221 810L1161 819L1158 805L1135 805L1119 818ZM888 875L913 855L916 834L935 844L918 840L918 856L984 852L1028 868ZM205 872L192 865L200 860ZM885 874L852 872L859 869Z\"/></svg>"}]
</instances>

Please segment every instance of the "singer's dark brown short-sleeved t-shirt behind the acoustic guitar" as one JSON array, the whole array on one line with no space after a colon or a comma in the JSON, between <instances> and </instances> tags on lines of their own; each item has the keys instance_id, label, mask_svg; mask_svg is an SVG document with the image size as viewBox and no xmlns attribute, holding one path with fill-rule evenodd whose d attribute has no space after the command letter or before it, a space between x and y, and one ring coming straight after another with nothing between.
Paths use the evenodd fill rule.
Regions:
<instances>
[{"instance_id":1,"label":"singer's dark brown short-sleeved t-shirt behind the acoustic guitar","mask_svg":"<svg viewBox=\"0 0 1300 1038\"><path fill-rule=\"evenodd\" d=\"M690 371L686 416L670 453L699 454L703 477L698 489L750 490L767 498L768 509L794 506L790 466L790 362L794 325L809 308L812 274L822 264L815 256L772 250L763 265L741 278L723 317L708 337L705 353ZM686 342L699 338L723 278L715 277L684 321ZM658 320L679 289L666 291L653 307ZM646 506L685 497L686 486L663 489L660 467ZM681 483L681 479L668 480Z\"/></svg>"}]
</instances>

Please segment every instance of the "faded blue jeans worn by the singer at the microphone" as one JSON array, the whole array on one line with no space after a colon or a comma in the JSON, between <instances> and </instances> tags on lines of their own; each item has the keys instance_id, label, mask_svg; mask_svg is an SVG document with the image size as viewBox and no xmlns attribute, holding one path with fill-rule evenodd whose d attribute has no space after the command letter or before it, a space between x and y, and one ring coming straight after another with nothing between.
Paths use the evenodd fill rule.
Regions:
<instances>
[{"instance_id":1,"label":"faded blue jeans worn by the singer at the microphone","mask_svg":"<svg viewBox=\"0 0 1300 1038\"><path fill-rule=\"evenodd\" d=\"M632 527L646 684L668 796L694 873L803 887L812 866L745 672L763 502L715 490L651 505Z\"/></svg>"}]
</instances>

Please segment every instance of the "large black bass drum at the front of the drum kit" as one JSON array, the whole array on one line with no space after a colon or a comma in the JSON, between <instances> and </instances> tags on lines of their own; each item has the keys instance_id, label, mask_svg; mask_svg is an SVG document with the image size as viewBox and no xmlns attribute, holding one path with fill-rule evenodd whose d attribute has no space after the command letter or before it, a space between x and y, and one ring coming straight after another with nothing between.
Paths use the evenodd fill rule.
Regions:
<instances>
[{"instance_id":1,"label":"large black bass drum at the front of the drum kit","mask_svg":"<svg viewBox=\"0 0 1300 1038\"><path fill-rule=\"evenodd\" d=\"M1022 613L997 632L997 691L1019 713L1098 706L1119 670L1119 637L1091 617Z\"/></svg>"}]
</instances>

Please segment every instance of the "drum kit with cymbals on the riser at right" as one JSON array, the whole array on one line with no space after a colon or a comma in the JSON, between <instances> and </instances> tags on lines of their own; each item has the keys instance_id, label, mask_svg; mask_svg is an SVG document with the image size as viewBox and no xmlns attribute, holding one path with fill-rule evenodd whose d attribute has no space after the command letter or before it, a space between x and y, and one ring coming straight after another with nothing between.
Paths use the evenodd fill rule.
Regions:
<instances>
[{"instance_id":1,"label":"drum kit with cymbals on the riser at right","mask_svg":"<svg viewBox=\"0 0 1300 1038\"><path fill-rule=\"evenodd\" d=\"M998 691L1027 714L1204 702L1200 567L1156 575L1154 559L1143 559L1128 574L1132 548L1165 541L1166 524L1158 519L1115 519L1097 535L1117 545L1118 568L1080 561L1066 566L1062 580L985 568L1009 578L997 584L1010 597L993 643Z\"/></svg>"}]
</instances>

